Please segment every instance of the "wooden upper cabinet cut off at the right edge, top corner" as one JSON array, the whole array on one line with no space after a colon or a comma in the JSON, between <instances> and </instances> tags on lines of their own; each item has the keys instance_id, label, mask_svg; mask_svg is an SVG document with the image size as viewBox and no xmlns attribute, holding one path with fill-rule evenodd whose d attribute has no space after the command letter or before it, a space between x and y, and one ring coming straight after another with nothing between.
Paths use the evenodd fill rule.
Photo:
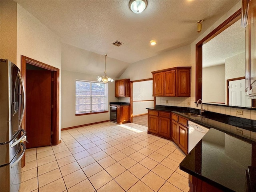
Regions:
<instances>
[{"instance_id":1,"label":"wooden upper cabinet cut off at the right edge, top corner","mask_svg":"<svg viewBox=\"0 0 256 192\"><path fill-rule=\"evenodd\" d=\"M256 98L256 1L242 1L242 24L246 24L246 94Z\"/></svg>"}]
</instances>

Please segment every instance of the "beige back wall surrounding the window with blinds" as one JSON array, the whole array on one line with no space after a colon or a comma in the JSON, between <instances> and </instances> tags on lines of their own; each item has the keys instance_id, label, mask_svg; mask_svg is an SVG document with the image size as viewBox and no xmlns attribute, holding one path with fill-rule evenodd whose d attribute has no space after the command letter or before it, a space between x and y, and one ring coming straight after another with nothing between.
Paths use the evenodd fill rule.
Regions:
<instances>
[{"instance_id":1,"label":"beige back wall surrounding the window with blinds","mask_svg":"<svg viewBox=\"0 0 256 192\"><path fill-rule=\"evenodd\" d=\"M76 107L76 80L95 81L96 76L78 72L62 70L62 102L61 102L61 128L90 124L110 119L110 114L100 113L75 116ZM114 96L115 84L108 83L108 103L117 102ZM108 105L109 106L109 105Z\"/></svg>"}]
</instances>

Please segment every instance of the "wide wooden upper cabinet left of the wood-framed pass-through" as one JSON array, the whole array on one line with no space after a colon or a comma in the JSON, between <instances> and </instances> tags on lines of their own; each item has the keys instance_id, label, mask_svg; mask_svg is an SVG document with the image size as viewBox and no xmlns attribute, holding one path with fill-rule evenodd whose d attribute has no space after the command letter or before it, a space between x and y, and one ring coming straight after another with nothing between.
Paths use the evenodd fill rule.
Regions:
<instances>
[{"instance_id":1,"label":"wide wooden upper cabinet left of the wood-framed pass-through","mask_svg":"<svg viewBox=\"0 0 256 192\"><path fill-rule=\"evenodd\" d=\"M190 97L191 67L174 67L151 72L153 96Z\"/></svg>"}]
</instances>

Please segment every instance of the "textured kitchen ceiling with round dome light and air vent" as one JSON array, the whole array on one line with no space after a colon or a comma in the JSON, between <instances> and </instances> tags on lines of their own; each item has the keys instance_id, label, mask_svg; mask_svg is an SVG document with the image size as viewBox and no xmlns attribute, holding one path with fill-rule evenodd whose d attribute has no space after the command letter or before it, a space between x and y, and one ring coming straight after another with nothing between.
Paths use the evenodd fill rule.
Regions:
<instances>
[{"instance_id":1,"label":"textured kitchen ceiling with round dome light and air vent","mask_svg":"<svg viewBox=\"0 0 256 192\"><path fill-rule=\"evenodd\" d=\"M200 36L198 20L204 32L239 0L148 0L141 14L129 9L129 0L16 2L63 43L129 64L190 44ZM124 44L112 45L116 40Z\"/></svg>"}]
</instances>

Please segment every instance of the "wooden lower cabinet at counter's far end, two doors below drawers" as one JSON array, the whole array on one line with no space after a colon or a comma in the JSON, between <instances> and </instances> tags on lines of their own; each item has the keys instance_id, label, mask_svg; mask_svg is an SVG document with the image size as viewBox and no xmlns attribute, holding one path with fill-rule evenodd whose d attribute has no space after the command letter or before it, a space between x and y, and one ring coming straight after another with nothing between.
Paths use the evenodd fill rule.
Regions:
<instances>
[{"instance_id":1,"label":"wooden lower cabinet at counter's far end, two doors below drawers","mask_svg":"<svg viewBox=\"0 0 256 192\"><path fill-rule=\"evenodd\" d=\"M170 139L171 112L148 110L148 133Z\"/></svg>"}]
</instances>

